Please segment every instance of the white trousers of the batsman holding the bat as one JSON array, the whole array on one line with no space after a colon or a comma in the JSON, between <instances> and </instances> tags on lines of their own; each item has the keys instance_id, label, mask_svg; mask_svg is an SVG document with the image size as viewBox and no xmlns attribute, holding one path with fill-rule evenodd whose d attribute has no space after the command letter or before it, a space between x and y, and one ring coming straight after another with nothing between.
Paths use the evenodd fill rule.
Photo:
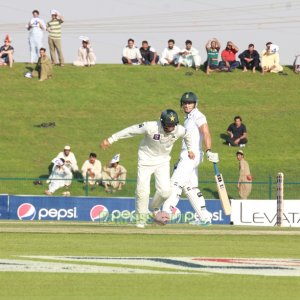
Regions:
<instances>
[{"instance_id":1,"label":"white trousers of the batsman holding the bat","mask_svg":"<svg viewBox=\"0 0 300 300\"><path fill-rule=\"evenodd\" d=\"M163 211L171 213L170 207L176 207L184 187L198 187L198 166L201 161L200 153L195 159L189 159L188 152L183 151L171 177L172 193L163 204Z\"/></svg>"}]
</instances>

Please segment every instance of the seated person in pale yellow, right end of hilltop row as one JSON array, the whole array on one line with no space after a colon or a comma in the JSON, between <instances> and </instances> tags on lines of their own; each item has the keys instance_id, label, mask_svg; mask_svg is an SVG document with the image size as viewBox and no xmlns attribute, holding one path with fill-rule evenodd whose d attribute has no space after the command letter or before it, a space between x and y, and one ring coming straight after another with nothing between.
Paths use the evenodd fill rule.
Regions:
<instances>
[{"instance_id":1,"label":"seated person in pale yellow, right end of hilltop row","mask_svg":"<svg viewBox=\"0 0 300 300\"><path fill-rule=\"evenodd\" d=\"M271 72L278 73L283 71L283 67L279 64L280 58L278 53L279 47L268 42L266 49L260 54L262 73Z\"/></svg>"}]
</instances>

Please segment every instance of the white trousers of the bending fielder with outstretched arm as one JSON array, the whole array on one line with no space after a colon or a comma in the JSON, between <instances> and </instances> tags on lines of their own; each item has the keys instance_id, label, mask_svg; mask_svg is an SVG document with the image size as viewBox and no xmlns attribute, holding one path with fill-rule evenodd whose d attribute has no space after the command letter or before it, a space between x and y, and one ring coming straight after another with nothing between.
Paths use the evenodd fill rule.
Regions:
<instances>
[{"instance_id":1,"label":"white trousers of the bending fielder with outstretched arm","mask_svg":"<svg viewBox=\"0 0 300 300\"><path fill-rule=\"evenodd\" d=\"M155 177L156 195L167 199L171 194L170 162L159 165L146 166L138 165L136 202L137 214L146 215L149 212L149 195L151 175Z\"/></svg>"}]
</instances>

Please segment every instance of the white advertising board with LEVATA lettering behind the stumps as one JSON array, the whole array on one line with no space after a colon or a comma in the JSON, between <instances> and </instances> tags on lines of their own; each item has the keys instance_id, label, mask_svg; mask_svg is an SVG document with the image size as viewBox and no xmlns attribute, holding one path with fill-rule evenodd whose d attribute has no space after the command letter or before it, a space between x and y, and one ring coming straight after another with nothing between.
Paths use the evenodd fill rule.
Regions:
<instances>
[{"instance_id":1,"label":"white advertising board with LEVATA lettering behind the stumps","mask_svg":"<svg viewBox=\"0 0 300 300\"><path fill-rule=\"evenodd\" d=\"M276 226L277 200L232 200L233 225ZM300 227L300 200L284 200L283 227Z\"/></svg>"}]
</instances>

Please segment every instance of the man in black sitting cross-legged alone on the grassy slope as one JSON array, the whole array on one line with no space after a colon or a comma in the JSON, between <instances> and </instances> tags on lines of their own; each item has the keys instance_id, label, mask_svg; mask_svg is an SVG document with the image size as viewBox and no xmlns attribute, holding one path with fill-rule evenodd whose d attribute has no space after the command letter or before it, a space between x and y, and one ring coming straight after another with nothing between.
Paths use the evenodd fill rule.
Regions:
<instances>
[{"instance_id":1,"label":"man in black sitting cross-legged alone on the grassy slope","mask_svg":"<svg viewBox=\"0 0 300 300\"><path fill-rule=\"evenodd\" d=\"M245 147L247 140L247 129L246 126L242 123L242 118L236 116L234 118L234 123L230 124L227 128L228 146L240 146Z\"/></svg>"}]
</instances>

